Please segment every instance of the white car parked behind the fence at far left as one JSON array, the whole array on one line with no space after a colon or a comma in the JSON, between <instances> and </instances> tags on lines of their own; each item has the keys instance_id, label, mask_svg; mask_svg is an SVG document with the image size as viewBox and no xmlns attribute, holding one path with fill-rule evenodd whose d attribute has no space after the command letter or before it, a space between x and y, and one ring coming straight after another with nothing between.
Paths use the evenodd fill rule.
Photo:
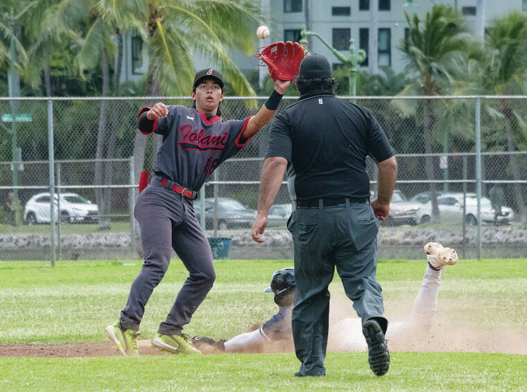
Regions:
<instances>
[{"instance_id":1,"label":"white car parked behind the fence at far left","mask_svg":"<svg viewBox=\"0 0 527 392\"><path fill-rule=\"evenodd\" d=\"M88 199L76 193L55 193L55 219L64 223L98 222L98 208ZM60 206L60 213L58 208ZM27 224L51 222L50 193L33 195L24 207L24 220Z\"/></svg>"}]
</instances>

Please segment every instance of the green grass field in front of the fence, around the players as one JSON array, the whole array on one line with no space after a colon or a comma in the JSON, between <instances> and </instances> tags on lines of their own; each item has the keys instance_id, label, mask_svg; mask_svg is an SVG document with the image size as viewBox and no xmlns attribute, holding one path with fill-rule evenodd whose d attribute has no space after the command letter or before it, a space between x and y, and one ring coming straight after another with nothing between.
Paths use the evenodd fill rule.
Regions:
<instances>
[{"instance_id":1,"label":"green grass field in front of the fence, around the players","mask_svg":"<svg viewBox=\"0 0 527 392\"><path fill-rule=\"evenodd\" d=\"M228 339L275 312L263 289L291 260L218 260L217 280L187 326L189 335ZM379 262L386 316L411 309L426 262ZM0 344L105 341L140 262L0 262ZM521 391L527 390L527 260L461 260L443 274L431 352L392 350L375 377L367 353L328 353L326 377L297 379L293 353L0 357L0 391ZM187 272L173 260L147 305L141 333L153 337ZM331 317L354 317L336 277ZM108 342L108 344L110 344ZM503 348L501 348L501 346ZM523 345L523 346L522 346ZM471 352L472 351L472 352ZM503 353L500 353L503 352ZM517 353L517 354L512 354Z\"/></svg>"}]
</instances>

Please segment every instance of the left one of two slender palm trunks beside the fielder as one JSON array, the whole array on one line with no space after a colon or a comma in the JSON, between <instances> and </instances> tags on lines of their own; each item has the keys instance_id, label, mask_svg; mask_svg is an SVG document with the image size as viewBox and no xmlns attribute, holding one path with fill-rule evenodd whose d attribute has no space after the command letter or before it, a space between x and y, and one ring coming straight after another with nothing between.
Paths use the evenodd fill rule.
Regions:
<instances>
[{"instance_id":1,"label":"left one of two slender palm trunks beside the fielder","mask_svg":"<svg viewBox=\"0 0 527 392\"><path fill-rule=\"evenodd\" d=\"M108 53L105 48L103 49L102 57L103 97L107 97L110 91L110 66L108 64ZM101 114L99 115L98 121L97 148L95 152L95 185L97 186L103 184L103 162L101 159L105 156L107 105L107 100L101 101ZM107 211L107 206L104 203L104 193L102 188L95 189L95 197L99 213L99 230L110 229L110 211Z\"/></svg>"}]
</instances>

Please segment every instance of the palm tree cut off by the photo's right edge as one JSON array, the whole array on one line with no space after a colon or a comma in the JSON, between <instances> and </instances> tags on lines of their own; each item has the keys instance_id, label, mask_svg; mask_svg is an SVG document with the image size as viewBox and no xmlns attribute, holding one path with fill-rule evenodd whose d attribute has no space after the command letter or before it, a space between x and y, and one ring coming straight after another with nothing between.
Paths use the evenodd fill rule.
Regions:
<instances>
[{"instance_id":1,"label":"palm tree cut off by the photo's right edge","mask_svg":"<svg viewBox=\"0 0 527 392\"><path fill-rule=\"evenodd\" d=\"M506 17L496 19L492 29L485 35L483 68L480 85L487 93L495 95L525 95L527 93L527 15L512 12ZM494 109L499 116L495 121L504 122L506 130L506 151L517 150L525 123L515 100L500 99ZM490 107L487 112L495 113ZM523 126L522 126L523 125ZM509 155L509 166L512 177L521 179L521 172L515 154ZM514 195L519 208L521 221L527 222L527 208L521 193L521 186L514 184Z\"/></svg>"}]
</instances>

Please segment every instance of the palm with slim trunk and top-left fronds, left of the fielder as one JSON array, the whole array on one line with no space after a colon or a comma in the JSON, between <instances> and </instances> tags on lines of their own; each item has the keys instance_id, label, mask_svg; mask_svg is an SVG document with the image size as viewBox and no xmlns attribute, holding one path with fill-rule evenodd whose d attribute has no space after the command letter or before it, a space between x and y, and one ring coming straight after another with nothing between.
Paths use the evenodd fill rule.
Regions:
<instances>
[{"instance_id":1,"label":"palm with slim trunk and top-left fronds, left of the fielder","mask_svg":"<svg viewBox=\"0 0 527 392\"><path fill-rule=\"evenodd\" d=\"M119 77L121 73L122 37L121 31L130 28L128 23L133 19L134 6L141 5L137 1L113 0L62 0L51 8L49 19L51 24L47 33L55 33L55 26L68 26L69 33L74 35L77 42L82 44L76 57L76 67L81 77L85 71L101 66L103 75L102 96L110 96L110 66L114 52L117 51L114 66L113 93L119 95ZM117 45L114 44L116 38ZM101 101L101 111L98 119L98 132L96 142L96 162L94 177L96 185L112 184L113 166L110 161L103 165L103 159L112 158L116 144L115 132L109 132L119 116L116 105L113 105L112 116L108 116L110 103ZM110 122L108 118L111 118ZM103 170L104 167L104 170ZM111 188L96 188L96 202L100 214L99 229L110 229L110 201Z\"/></svg>"}]
</instances>

